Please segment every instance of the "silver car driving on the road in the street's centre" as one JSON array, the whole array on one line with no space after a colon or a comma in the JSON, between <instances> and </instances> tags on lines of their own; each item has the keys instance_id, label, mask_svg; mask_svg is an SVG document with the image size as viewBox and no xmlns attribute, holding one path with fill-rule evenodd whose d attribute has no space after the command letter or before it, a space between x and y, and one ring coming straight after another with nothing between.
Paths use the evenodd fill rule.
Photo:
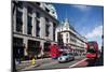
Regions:
<instances>
[{"instance_id":1,"label":"silver car driving on the road in the street's centre","mask_svg":"<svg viewBox=\"0 0 108 72\"><path fill-rule=\"evenodd\" d=\"M58 62L66 62L73 59L75 59L75 56L71 53L64 53L58 57Z\"/></svg>"}]
</instances>

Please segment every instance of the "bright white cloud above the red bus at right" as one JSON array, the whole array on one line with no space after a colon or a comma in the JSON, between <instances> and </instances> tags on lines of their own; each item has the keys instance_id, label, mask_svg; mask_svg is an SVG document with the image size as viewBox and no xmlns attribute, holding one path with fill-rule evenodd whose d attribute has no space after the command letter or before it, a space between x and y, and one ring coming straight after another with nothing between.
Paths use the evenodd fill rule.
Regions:
<instances>
[{"instance_id":1,"label":"bright white cloud above the red bus at right","mask_svg":"<svg viewBox=\"0 0 108 72\"><path fill-rule=\"evenodd\" d=\"M95 27L91 32L89 32L85 38L97 38L103 34L103 26Z\"/></svg>"}]
</instances>

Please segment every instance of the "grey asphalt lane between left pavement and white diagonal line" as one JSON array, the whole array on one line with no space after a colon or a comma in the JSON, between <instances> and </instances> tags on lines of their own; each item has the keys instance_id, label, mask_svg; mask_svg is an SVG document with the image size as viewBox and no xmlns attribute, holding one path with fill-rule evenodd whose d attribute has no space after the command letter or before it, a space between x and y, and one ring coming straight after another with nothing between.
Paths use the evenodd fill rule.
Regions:
<instances>
[{"instance_id":1,"label":"grey asphalt lane between left pavement and white diagonal line","mask_svg":"<svg viewBox=\"0 0 108 72\"><path fill-rule=\"evenodd\" d=\"M31 68L26 68L23 70L66 69L66 68L75 67L77 62L80 62L84 59L85 57L81 57L81 58L77 58L75 60L63 62L63 63L59 63L58 61L53 61L51 63L46 63L40 67L31 67Z\"/></svg>"}]
</instances>

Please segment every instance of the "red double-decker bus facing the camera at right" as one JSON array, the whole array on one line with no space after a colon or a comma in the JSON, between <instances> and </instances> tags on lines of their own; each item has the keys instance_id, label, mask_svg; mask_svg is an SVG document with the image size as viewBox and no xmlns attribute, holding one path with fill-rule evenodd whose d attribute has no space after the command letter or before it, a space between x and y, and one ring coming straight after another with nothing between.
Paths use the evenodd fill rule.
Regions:
<instances>
[{"instance_id":1,"label":"red double-decker bus facing the camera at right","mask_svg":"<svg viewBox=\"0 0 108 72\"><path fill-rule=\"evenodd\" d=\"M98 58L98 44L96 41L86 43L86 58Z\"/></svg>"}]
</instances>

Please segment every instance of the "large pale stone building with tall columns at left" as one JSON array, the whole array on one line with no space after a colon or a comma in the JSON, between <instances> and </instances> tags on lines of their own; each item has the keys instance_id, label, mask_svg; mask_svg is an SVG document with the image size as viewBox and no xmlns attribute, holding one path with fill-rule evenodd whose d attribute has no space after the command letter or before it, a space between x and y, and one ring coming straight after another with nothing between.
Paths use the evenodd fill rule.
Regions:
<instances>
[{"instance_id":1,"label":"large pale stone building with tall columns at left","mask_svg":"<svg viewBox=\"0 0 108 72\"><path fill-rule=\"evenodd\" d=\"M12 1L13 54L17 57L44 55L55 42L58 25L56 10L52 4Z\"/></svg>"}]
</instances>

